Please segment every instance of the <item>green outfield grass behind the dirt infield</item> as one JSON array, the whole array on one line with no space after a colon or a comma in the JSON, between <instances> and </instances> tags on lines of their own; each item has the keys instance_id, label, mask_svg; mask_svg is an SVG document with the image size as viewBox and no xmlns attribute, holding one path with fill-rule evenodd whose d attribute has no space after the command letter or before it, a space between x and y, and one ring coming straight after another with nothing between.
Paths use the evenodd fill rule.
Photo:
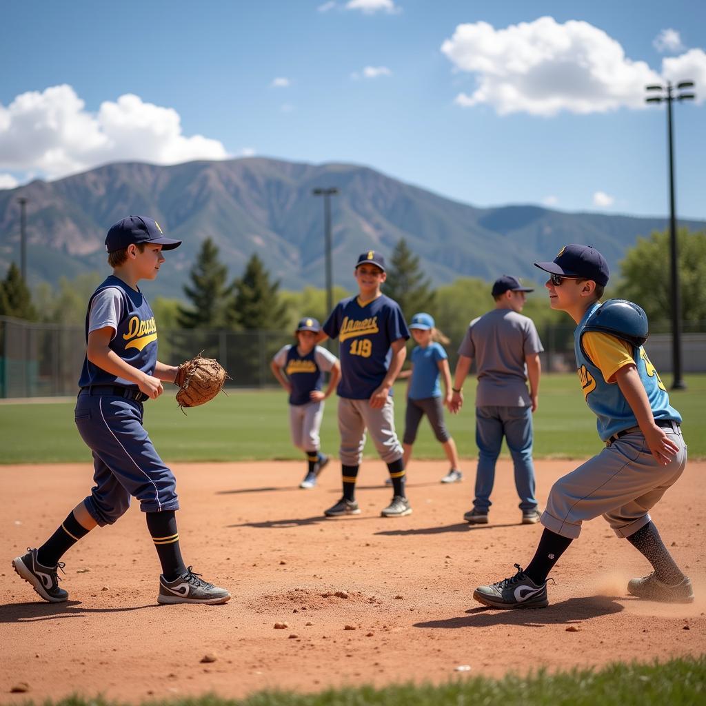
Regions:
<instances>
[{"instance_id":1,"label":"green outfield grass behind the dirt infield","mask_svg":"<svg viewBox=\"0 0 706 706\"><path fill-rule=\"evenodd\" d=\"M706 457L706 375L686 376L687 389L671 393L684 418L683 431L691 458ZM446 421L460 455L475 457L474 381L465 386L466 406ZM287 398L280 390L234 390L203 407L181 413L173 388L145 403L145 426L168 461L237 461L299 459L289 441ZM395 399L397 432L404 431L404 386ZM337 454L336 400L329 400L321 429L322 449ZM534 455L582 458L597 453L601 443L595 417L585 405L575 375L545 375L534 417ZM90 453L73 424L73 401L0 405L1 463L88 461ZM503 453L505 451L503 450ZM366 455L375 455L370 441ZM414 456L443 458L441 445L422 421Z\"/></svg>"}]
</instances>

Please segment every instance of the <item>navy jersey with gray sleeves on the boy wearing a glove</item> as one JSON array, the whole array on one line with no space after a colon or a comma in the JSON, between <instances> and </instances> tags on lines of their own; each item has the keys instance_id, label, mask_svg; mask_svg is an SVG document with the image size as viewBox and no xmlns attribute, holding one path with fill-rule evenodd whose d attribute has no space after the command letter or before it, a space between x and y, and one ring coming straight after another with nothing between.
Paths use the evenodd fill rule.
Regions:
<instances>
[{"instance_id":1,"label":"navy jersey with gray sleeves on the boy wearing a glove","mask_svg":"<svg viewBox=\"0 0 706 706\"><path fill-rule=\"evenodd\" d=\"M86 342L92 330L107 326L115 330L109 348L133 368L152 375L157 363L155 315L142 292L129 287L114 275L107 277L88 300ZM95 366L88 357L83 361L78 385L82 388L88 385L125 385L138 389L135 383Z\"/></svg>"}]
</instances>

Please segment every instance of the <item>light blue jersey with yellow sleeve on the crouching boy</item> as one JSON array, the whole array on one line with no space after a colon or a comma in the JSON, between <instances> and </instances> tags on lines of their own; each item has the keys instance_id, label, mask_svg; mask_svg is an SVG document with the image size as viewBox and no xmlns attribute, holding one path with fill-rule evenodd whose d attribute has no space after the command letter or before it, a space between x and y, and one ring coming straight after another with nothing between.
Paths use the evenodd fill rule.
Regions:
<instances>
[{"instance_id":1,"label":"light blue jersey with yellow sleeve on the crouching boy","mask_svg":"<svg viewBox=\"0 0 706 706\"><path fill-rule=\"evenodd\" d=\"M606 441L618 431L638 426L638 420L617 383L607 382L618 369L630 363L637 366L654 419L681 423L681 415L669 405L666 388L642 346L633 358L629 343L608 333L584 333L586 322L598 306L599 303L590 306L576 327L574 352L586 403L598 417L599 436Z\"/></svg>"}]
</instances>

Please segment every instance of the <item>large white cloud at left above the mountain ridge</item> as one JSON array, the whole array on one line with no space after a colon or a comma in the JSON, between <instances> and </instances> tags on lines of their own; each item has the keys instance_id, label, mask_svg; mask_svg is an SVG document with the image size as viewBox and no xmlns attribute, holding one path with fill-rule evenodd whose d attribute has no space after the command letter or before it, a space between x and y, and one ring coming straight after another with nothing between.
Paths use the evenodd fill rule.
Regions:
<instances>
[{"instance_id":1,"label":"large white cloud at left above the mountain ridge","mask_svg":"<svg viewBox=\"0 0 706 706\"><path fill-rule=\"evenodd\" d=\"M66 84L28 91L8 107L0 104L0 169L56 178L106 162L177 164L228 156L218 140L184 136L173 108L131 93L103 102L97 113L88 112Z\"/></svg>"}]
</instances>

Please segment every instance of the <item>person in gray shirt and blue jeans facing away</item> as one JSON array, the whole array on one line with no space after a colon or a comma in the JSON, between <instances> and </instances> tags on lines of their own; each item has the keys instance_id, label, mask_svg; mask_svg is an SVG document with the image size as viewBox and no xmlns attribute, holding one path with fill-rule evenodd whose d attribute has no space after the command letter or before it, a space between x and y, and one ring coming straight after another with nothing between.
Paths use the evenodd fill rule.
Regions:
<instances>
[{"instance_id":1,"label":"person in gray shirt and blue jeans facing away","mask_svg":"<svg viewBox=\"0 0 706 706\"><path fill-rule=\"evenodd\" d=\"M539 353L544 350L534 322L520 311L527 292L520 280L503 275L493 284L495 309L471 321L458 349L453 397L454 414L463 404L462 387L475 359L478 372L476 392L476 443L478 467L473 509L463 515L467 522L488 522L495 465L503 436L515 466L515 488L520 496L522 524L539 520L534 498L532 464L532 412L537 409ZM530 390L527 390L527 381Z\"/></svg>"}]
</instances>

